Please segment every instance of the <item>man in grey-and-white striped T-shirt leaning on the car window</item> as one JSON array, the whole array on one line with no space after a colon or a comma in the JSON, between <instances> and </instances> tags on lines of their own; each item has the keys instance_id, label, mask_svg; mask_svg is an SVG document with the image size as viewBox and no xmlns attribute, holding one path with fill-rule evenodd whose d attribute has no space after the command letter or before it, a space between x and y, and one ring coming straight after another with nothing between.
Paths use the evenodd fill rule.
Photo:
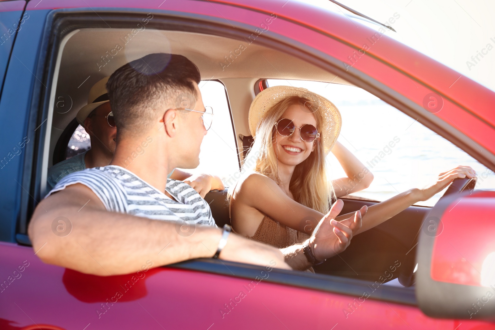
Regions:
<instances>
[{"instance_id":1,"label":"man in grey-and-white striped T-shirt leaning on the car window","mask_svg":"<svg viewBox=\"0 0 495 330\"><path fill-rule=\"evenodd\" d=\"M214 255L304 270L347 247L353 232L361 228L361 213L335 221L343 206L340 200L311 238L284 249L283 254L229 235L228 228L222 232L194 189L167 179L172 168L199 164L199 147L207 133L199 82L194 63L182 55L164 53L144 56L112 74L106 86L119 128L115 153L108 166L63 178L36 208L28 234L44 262L99 276L137 272L147 260L158 267ZM195 98L192 109L177 106L183 94ZM126 169L119 166L139 146L146 152ZM51 232L59 217L70 221L72 231L67 236ZM177 227L179 220L208 226L184 235Z\"/></svg>"}]
</instances>

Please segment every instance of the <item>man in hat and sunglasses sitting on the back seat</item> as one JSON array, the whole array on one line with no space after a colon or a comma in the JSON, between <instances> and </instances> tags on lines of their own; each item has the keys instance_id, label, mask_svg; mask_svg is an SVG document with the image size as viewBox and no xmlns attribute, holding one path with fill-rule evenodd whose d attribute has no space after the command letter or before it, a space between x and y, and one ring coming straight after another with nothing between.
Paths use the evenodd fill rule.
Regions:
<instances>
[{"instance_id":1,"label":"man in hat and sunglasses sitting on the back seat","mask_svg":"<svg viewBox=\"0 0 495 330\"><path fill-rule=\"evenodd\" d=\"M91 149L50 167L48 169L47 192L70 173L110 164L115 152L117 128L105 87L108 78L105 77L93 85L88 95L88 104L83 106L76 115L77 122L90 135ZM132 161L133 157L128 157L119 165L127 167ZM191 173L172 169L168 178L186 182L198 191L201 197L204 197L210 190L225 189L218 176L209 174L193 176Z\"/></svg>"}]
</instances>

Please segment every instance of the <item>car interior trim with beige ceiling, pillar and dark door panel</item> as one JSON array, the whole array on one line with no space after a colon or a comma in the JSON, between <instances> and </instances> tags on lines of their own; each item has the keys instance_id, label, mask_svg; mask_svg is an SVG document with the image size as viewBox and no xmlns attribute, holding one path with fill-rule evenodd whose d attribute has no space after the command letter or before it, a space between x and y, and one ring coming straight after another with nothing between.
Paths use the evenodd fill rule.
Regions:
<instances>
[{"instance_id":1,"label":"car interior trim with beige ceiling, pillar and dark door panel","mask_svg":"<svg viewBox=\"0 0 495 330\"><path fill-rule=\"evenodd\" d=\"M51 129L47 131L49 147L44 150L47 162L42 169L41 177L45 181L42 180L41 191L45 191L48 168L68 156L67 143L78 126L75 116L86 105L93 84L111 75L121 65L149 53L182 54L198 66L203 81L216 80L224 85L237 150L240 150L239 167L252 143L247 121L249 105L260 88L267 87L266 79L352 85L289 52L256 43L245 43L246 49L236 55L240 46L236 39L150 28L132 39L123 38L128 33L129 29L124 28L81 28L61 41L51 92L51 99L55 101L49 109ZM117 54L114 51L116 44L124 45ZM60 100L64 102L63 108L56 106ZM222 162L221 157L219 161ZM205 198L219 227L230 223L226 193L226 190L211 191ZM377 203L352 196L343 200L345 206L341 214ZM398 260L403 265L400 272L387 281L398 277L402 285L412 285L416 265L414 248L421 223L429 210L429 207L411 206L383 224L353 237L345 252L315 266L315 272L374 282Z\"/></svg>"}]
</instances>

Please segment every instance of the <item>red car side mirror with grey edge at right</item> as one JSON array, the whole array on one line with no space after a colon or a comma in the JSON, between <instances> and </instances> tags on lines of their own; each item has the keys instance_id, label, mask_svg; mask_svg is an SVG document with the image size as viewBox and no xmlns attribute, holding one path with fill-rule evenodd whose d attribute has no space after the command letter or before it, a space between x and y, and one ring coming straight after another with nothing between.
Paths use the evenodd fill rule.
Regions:
<instances>
[{"instance_id":1,"label":"red car side mirror with grey edge at right","mask_svg":"<svg viewBox=\"0 0 495 330\"><path fill-rule=\"evenodd\" d=\"M434 318L495 318L495 191L439 200L423 221L416 298Z\"/></svg>"}]
</instances>

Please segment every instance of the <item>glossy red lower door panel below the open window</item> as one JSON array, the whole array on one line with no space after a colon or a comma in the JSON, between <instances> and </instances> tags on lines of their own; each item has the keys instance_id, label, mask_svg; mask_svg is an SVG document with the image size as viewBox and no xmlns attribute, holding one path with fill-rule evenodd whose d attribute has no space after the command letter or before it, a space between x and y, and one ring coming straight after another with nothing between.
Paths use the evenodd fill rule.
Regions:
<instances>
[{"instance_id":1,"label":"glossy red lower door panel below the open window","mask_svg":"<svg viewBox=\"0 0 495 330\"><path fill-rule=\"evenodd\" d=\"M86 329L332 329L336 324L340 329L453 330L459 324L461 330L495 329L485 322L432 319L413 306L369 298L358 304L359 297L263 281L247 287L251 280L170 268L150 269L124 288L133 274L81 274L44 264L32 248L11 243L0 243L0 260L0 279L13 278L16 270L20 274L0 293L0 318L16 322L5 330L53 320L67 330L88 325ZM28 266L19 272L23 264ZM112 303L115 291L122 297Z\"/></svg>"}]
</instances>

